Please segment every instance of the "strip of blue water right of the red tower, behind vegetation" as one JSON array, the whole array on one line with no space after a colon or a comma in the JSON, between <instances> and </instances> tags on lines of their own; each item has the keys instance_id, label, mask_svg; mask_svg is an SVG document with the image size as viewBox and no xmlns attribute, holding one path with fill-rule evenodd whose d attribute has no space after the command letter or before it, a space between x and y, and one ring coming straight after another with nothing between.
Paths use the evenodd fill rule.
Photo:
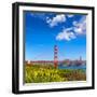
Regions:
<instances>
[{"instance_id":1,"label":"strip of blue water right of the red tower, behind vegetation","mask_svg":"<svg viewBox=\"0 0 97 97\"><path fill-rule=\"evenodd\" d=\"M81 66L63 66L63 65L59 65L58 69L73 69L73 70L81 69L83 71L86 71L86 65L81 65Z\"/></svg>"}]
</instances>

